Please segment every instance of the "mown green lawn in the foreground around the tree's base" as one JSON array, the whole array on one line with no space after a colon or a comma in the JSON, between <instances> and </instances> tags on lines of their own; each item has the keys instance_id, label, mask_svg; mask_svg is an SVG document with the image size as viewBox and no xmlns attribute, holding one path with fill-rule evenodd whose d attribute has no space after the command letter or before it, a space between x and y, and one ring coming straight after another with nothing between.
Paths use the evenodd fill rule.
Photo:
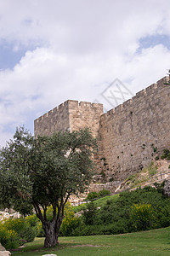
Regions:
<instances>
[{"instance_id":1,"label":"mown green lawn in the foreground around the tree's base","mask_svg":"<svg viewBox=\"0 0 170 256\"><path fill-rule=\"evenodd\" d=\"M37 256L48 253L57 256L100 255L170 255L170 227L115 236L70 236L60 237L59 246L43 248L43 239L27 243L26 247L12 252L16 256Z\"/></svg>"}]
</instances>

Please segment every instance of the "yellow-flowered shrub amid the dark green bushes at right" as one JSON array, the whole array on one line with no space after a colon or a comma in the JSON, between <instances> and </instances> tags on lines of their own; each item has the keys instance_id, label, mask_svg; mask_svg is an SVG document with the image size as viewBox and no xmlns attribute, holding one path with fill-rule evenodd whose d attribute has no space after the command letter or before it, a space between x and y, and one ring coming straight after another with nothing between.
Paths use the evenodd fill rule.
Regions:
<instances>
[{"instance_id":1,"label":"yellow-flowered shrub amid the dark green bushes at right","mask_svg":"<svg viewBox=\"0 0 170 256\"><path fill-rule=\"evenodd\" d=\"M131 219L136 230L150 230L153 225L154 209L150 204L134 204Z\"/></svg>"}]
</instances>

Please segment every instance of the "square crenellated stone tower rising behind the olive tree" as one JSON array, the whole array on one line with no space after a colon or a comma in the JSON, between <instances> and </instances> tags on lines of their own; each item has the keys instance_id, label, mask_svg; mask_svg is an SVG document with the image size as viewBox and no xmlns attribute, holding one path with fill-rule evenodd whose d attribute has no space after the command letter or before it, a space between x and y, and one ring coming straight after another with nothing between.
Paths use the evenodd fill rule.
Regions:
<instances>
[{"instance_id":1,"label":"square crenellated stone tower rising behind the olive tree","mask_svg":"<svg viewBox=\"0 0 170 256\"><path fill-rule=\"evenodd\" d=\"M89 127L96 137L103 105L66 101L34 121L34 135L51 135L54 131L74 131Z\"/></svg>"}]
</instances>

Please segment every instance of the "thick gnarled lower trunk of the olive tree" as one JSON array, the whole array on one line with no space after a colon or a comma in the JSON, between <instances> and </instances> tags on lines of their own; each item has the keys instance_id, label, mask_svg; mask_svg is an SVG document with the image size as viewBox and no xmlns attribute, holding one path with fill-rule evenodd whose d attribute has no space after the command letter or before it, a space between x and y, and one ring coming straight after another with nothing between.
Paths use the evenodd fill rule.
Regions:
<instances>
[{"instance_id":1,"label":"thick gnarled lower trunk of the olive tree","mask_svg":"<svg viewBox=\"0 0 170 256\"><path fill-rule=\"evenodd\" d=\"M59 228L62 220L57 221L46 221L42 224L42 228L45 233L44 247L54 247L56 244L59 245Z\"/></svg>"}]
</instances>

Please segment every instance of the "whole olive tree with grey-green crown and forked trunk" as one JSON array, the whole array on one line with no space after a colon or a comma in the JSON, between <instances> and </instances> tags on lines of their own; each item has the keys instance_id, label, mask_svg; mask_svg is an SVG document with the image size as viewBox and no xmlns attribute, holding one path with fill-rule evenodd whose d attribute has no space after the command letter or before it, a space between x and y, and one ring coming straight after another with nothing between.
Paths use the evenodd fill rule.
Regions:
<instances>
[{"instance_id":1,"label":"whole olive tree with grey-green crown and forked trunk","mask_svg":"<svg viewBox=\"0 0 170 256\"><path fill-rule=\"evenodd\" d=\"M64 208L71 195L82 193L93 175L95 140L88 129L31 136L23 127L0 151L0 204L30 213L34 207L45 233L44 247L59 243ZM53 218L48 220L48 206Z\"/></svg>"}]
</instances>

